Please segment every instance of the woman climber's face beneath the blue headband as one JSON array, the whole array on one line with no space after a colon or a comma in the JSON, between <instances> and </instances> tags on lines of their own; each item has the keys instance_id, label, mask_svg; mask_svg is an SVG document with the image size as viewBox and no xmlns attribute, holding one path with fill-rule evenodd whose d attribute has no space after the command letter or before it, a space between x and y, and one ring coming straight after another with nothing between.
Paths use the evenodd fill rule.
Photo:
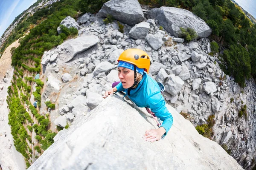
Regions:
<instances>
[{"instance_id":1,"label":"woman climber's face beneath the blue headband","mask_svg":"<svg viewBox=\"0 0 256 170\"><path fill-rule=\"evenodd\" d=\"M122 82L123 88L130 88L134 84L134 71L131 69L119 67L118 77Z\"/></svg>"}]
</instances>

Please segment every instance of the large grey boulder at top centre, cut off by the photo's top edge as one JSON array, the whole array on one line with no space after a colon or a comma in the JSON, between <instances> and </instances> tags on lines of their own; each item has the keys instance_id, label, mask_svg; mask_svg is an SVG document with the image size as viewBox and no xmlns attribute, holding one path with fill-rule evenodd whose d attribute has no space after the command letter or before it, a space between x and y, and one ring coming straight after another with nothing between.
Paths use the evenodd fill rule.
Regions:
<instances>
[{"instance_id":1,"label":"large grey boulder at top centre, cut off by the photo's top edge","mask_svg":"<svg viewBox=\"0 0 256 170\"><path fill-rule=\"evenodd\" d=\"M98 14L102 17L107 17L110 14L114 19L130 26L144 20L138 0L110 0L102 6Z\"/></svg>"}]
</instances>

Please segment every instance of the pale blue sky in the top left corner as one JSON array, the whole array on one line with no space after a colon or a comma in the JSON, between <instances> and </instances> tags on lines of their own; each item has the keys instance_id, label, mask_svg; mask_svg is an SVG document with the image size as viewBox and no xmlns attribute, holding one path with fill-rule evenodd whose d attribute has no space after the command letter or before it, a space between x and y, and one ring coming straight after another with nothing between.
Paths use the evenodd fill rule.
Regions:
<instances>
[{"instance_id":1,"label":"pale blue sky in the top left corner","mask_svg":"<svg viewBox=\"0 0 256 170\"><path fill-rule=\"evenodd\" d=\"M15 18L37 0L0 0L0 37Z\"/></svg>"}]
</instances>

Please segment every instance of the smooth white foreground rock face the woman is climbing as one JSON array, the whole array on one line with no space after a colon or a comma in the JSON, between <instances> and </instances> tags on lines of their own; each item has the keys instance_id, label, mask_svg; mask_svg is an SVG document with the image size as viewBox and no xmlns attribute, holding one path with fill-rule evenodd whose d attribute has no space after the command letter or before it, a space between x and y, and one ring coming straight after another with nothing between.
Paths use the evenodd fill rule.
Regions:
<instances>
[{"instance_id":1,"label":"smooth white foreground rock face the woman is climbing","mask_svg":"<svg viewBox=\"0 0 256 170\"><path fill-rule=\"evenodd\" d=\"M156 128L152 118L144 118L145 109L139 113L121 97L109 96L59 136L28 170L242 170L219 144L199 135L174 108L167 108L175 122L165 139L152 144L142 139L145 130Z\"/></svg>"}]
</instances>

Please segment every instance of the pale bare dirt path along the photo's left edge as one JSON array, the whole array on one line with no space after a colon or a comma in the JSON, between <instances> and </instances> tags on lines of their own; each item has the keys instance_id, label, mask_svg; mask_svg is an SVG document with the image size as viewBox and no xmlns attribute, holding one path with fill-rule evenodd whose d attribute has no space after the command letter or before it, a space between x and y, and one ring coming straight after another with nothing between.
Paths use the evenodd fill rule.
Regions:
<instances>
[{"instance_id":1,"label":"pale bare dirt path along the photo's left edge","mask_svg":"<svg viewBox=\"0 0 256 170\"><path fill-rule=\"evenodd\" d=\"M7 88L11 85L13 69L11 66L12 55L10 49L19 45L18 40L12 43L3 53L0 59L0 80L9 71L8 82L0 82L3 90L0 90L0 164L3 170L25 170L26 164L23 156L17 152L11 135L11 127L8 125L8 104L6 103ZM2 84L1 84L2 83Z\"/></svg>"}]
</instances>

